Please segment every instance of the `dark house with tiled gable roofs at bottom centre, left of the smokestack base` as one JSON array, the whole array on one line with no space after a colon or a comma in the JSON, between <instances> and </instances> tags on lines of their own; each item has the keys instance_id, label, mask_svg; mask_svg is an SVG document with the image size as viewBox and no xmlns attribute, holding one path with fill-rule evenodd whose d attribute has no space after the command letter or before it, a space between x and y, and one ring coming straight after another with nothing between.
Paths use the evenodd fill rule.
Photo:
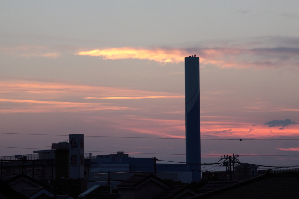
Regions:
<instances>
[{"instance_id":1,"label":"dark house with tiled gable roofs at bottom centre, left of the smokestack base","mask_svg":"<svg viewBox=\"0 0 299 199\"><path fill-rule=\"evenodd\" d=\"M198 195L190 186L173 186L152 173L134 174L117 187L121 199L185 199Z\"/></svg>"}]
</instances>

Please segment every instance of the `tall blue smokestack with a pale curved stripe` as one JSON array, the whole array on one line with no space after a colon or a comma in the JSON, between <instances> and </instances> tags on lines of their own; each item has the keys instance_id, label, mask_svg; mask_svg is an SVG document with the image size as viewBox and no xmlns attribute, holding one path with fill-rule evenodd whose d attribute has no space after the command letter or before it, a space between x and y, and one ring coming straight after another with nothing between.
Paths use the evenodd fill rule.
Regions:
<instances>
[{"instance_id":1,"label":"tall blue smokestack with a pale curved stripe","mask_svg":"<svg viewBox=\"0 0 299 199\"><path fill-rule=\"evenodd\" d=\"M199 57L185 57L185 117L186 162L192 172L192 181L199 181L200 166L200 107Z\"/></svg>"}]
</instances>

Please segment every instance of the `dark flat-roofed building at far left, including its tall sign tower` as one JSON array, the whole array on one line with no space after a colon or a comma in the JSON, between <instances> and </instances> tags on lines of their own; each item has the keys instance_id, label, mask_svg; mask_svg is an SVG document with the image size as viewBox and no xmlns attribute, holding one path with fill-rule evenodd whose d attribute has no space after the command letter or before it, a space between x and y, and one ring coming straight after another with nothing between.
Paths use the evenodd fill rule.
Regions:
<instances>
[{"instance_id":1,"label":"dark flat-roofed building at far left, including its tall sign tower","mask_svg":"<svg viewBox=\"0 0 299 199\"><path fill-rule=\"evenodd\" d=\"M64 178L91 180L92 154L84 154L84 135L70 134L69 138L71 143L53 143L51 150L0 157L1 177L24 172L36 180Z\"/></svg>"}]
</instances>

